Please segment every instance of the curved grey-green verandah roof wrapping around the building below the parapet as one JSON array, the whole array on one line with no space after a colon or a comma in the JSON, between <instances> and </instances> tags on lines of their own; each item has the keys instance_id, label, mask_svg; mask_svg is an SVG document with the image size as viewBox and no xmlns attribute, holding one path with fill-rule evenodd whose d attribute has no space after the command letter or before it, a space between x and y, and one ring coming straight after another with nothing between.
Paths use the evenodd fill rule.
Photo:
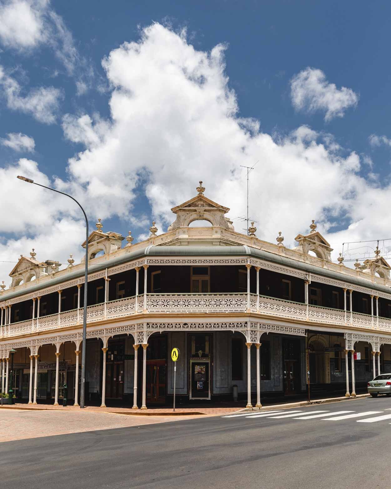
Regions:
<instances>
[{"instance_id":1,"label":"curved grey-green verandah roof wrapping around the building below the parapet","mask_svg":"<svg viewBox=\"0 0 391 489\"><path fill-rule=\"evenodd\" d=\"M247 245L239 246L155 246L150 245L146 248L140 248L139 250L130 251L129 253L121 254L110 260L105 260L96 264L91 264L88 266L88 273L94 273L105 268L110 268L115 265L120 265L122 263L127 263L137 258L143 258L148 256L252 256L254 258L260 258L262 260L276 263L279 265L284 265L285 267L296 268L302 270L305 273L314 273L317 275L322 275L324 277L339 280L341 282L346 282L348 284L353 284L361 287L366 287L373 290L379 290L381 292L391 294L391 288L385 285L376 284L365 280L361 277L353 277L351 275L345 275L344 273L336 272L334 270L328 270L326 268L317 267L309 263L299 262L292 260L286 256L277 255L270 253L269 251L264 251L258 248L252 248ZM79 268L78 270L71 271L66 275L61 275L60 277L54 277L51 280L45 281L41 284L33 285L26 289L21 289L15 292L5 293L1 296L1 301L6 301L18 297L19 295L29 294L31 292L38 291L40 289L46 289L52 285L60 284L62 282L67 282L84 275L84 269Z\"/></svg>"}]
</instances>

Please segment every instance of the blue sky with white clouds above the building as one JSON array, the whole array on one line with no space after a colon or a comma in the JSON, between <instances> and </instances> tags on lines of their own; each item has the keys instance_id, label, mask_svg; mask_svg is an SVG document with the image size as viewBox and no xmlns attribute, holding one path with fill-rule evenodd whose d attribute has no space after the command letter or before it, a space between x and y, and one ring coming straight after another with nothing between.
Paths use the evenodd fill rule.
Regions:
<instances>
[{"instance_id":1,"label":"blue sky with white clouds above the building","mask_svg":"<svg viewBox=\"0 0 391 489\"><path fill-rule=\"evenodd\" d=\"M391 237L390 17L387 1L0 1L0 259L83 251L77 209L22 169L143 238L199 179L244 214L240 165L259 160L262 239L295 245L311 219L336 253Z\"/></svg>"}]
</instances>

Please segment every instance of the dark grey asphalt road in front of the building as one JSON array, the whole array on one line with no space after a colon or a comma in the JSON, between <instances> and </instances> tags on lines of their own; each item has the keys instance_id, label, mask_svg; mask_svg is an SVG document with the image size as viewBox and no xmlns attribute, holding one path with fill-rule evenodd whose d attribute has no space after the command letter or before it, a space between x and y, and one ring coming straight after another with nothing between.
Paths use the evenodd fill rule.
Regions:
<instances>
[{"instance_id":1,"label":"dark grey asphalt road in front of the building","mask_svg":"<svg viewBox=\"0 0 391 489\"><path fill-rule=\"evenodd\" d=\"M390 398L369 398L287 418L217 416L4 442L0 487L389 488L391 419L358 421L390 409ZM327 420L347 410L356 417ZM315 411L322 417L295 419Z\"/></svg>"}]
</instances>

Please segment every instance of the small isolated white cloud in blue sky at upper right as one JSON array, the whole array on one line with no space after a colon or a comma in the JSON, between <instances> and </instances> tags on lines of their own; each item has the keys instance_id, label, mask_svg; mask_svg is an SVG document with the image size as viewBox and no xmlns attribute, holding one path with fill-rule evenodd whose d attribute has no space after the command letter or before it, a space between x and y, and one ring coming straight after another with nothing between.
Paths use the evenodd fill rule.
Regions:
<instances>
[{"instance_id":1,"label":"small isolated white cloud in blue sky at upper right","mask_svg":"<svg viewBox=\"0 0 391 489\"><path fill-rule=\"evenodd\" d=\"M323 111L325 121L343 117L349 107L358 103L358 95L352 89L337 89L326 79L320 69L307 67L295 75L291 81L292 105L297 111Z\"/></svg>"}]
</instances>

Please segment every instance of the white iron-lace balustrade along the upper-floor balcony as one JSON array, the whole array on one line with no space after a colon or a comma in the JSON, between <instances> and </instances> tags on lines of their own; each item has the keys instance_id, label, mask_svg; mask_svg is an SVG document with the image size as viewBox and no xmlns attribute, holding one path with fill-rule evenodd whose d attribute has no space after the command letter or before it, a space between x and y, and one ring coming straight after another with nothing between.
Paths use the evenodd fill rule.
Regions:
<instances>
[{"instance_id":1,"label":"white iron-lace balustrade along the upper-floor balcony","mask_svg":"<svg viewBox=\"0 0 391 489\"><path fill-rule=\"evenodd\" d=\"M87 322L102 321L106 318L120 318L143 312L143 294L126 297L107 303L87 307ZM246 312L249 306L252 312L271 317L290 318L299 322L360 327L379 331L391 331L391 319L341 311L321 306L306 305L301 302L287 301L246 292L233 293L161 293L146 294L146 310L153 313L174 312ZM34 320L28 319L1 327L1 336L16 336L36 331L53 330L83 323L83 308L50 314Z\"/></svg>"}]
</instances>

